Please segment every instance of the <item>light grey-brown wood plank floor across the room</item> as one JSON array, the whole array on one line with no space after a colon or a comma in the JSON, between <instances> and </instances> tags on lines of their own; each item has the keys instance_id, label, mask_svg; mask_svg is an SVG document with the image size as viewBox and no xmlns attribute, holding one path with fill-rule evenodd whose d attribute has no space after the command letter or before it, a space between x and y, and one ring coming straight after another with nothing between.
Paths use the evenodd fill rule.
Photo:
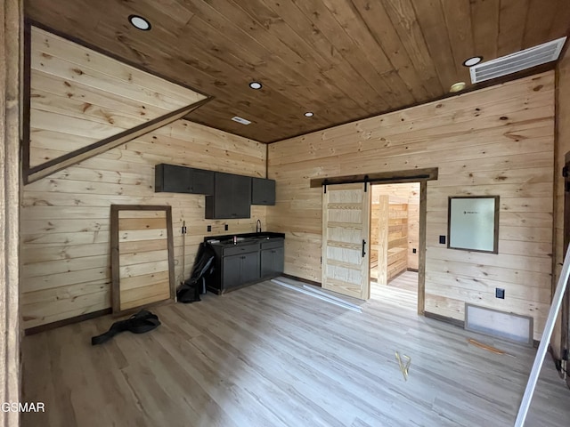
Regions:
<instances>
[{"instance_id":1,"label":"light grey-brown wood plank floor across the room","mask_svg":"<svg viewBox=\"0 0 570 427\"><path fill-rule=\"evenodd\" d=\"M101 346L110 317L27 336L22 399L46 412L22 426L512 425L535 350L418 317L410 292L384 287L362 314L264 282L158 307L158 329ZM526 425L569 419L547 359Z\"/></svg>"}]
</instances>

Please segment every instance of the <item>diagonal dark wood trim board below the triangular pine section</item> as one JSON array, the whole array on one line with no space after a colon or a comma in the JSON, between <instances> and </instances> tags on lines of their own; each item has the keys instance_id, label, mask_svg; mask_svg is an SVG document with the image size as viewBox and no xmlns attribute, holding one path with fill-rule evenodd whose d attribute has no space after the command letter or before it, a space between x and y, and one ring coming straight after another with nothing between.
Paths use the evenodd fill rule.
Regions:
<instances>
[{"instance_id":1,"label":"diagonal dark wood trim board below the triangular pine section","mask_svg":"<svg viewBox=\"0 0 570 427\"><path fill-rule=\"evenodd\" d=\"M66 167L72 165L77 165L77 163L83 162L88 158L102 154L105 151L114 149L119 145L125 144L128 141L132 141L134 138L138 138L146 133L151 133L159 129L160 127L169 125L172 122L175 122L176 120L191 113L191 111L194 109L198 109L211 99L212 98L207 98L205 100L195 102L191 105L187 105L181 109L176 109L175 111L171 111L170 113L157 117L153 120L143 123L142 125L135 126L132 129L127 129L126 131L112 135L109 138L105 138L101 141L94 142L93 144L87 145L81 149L76 149L75 151L71 151L70 153L65 154L61 157L53 158L52 160L45 162L42 165L24 168L24 183L28 184L30 182L40 180L48 175L51 175L52 173L61 171L61 169L65 169ZM25 143L29 144L29 141L25 141Z\"/></svg>"}]
</instances>

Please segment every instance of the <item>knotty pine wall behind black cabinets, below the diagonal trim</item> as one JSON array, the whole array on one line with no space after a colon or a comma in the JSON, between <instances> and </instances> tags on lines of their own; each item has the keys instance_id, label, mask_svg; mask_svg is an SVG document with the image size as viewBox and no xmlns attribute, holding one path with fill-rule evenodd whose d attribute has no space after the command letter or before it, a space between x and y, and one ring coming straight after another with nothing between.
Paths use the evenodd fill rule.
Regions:
<instances>
[{"instance_id":1,"label":"knotty pine wall behind black cabinets, below the diagonal trim","mask_svg":"<svg viewBox=\"0 0 570 427\"><path fill-rule=\"evenodd\" d=\"M188 278L206 235L265 227L251 218L205 220L204 196L154 192L154 165L189 165L265 177L265 145L179 120L117 149L33 182L22 195L21 312L24 327L110 307L110 205L172 205L175 283ZM183 221L188 227L182 270ZM212 225L208 233L207 225Z\"/></svg>"}]
</instances>

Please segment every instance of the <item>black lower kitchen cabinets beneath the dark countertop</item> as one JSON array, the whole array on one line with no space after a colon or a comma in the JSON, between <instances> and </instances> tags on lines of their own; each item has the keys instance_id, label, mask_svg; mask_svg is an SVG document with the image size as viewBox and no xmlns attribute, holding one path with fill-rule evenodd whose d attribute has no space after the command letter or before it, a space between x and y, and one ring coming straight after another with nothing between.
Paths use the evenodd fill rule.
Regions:
<instances>
[{"instance_id":1,"label":"black lower kitchen cabinets beneath the dark countertop","mask_svg":"<svg viewBox=\"0 0 570 427\"><path fill-rule=\"evenodd\" d=\"M254 242L212 244L216 253L214 274L208 289L216 294L275 278L283 272L284 239L259 239Z\"/></svg>"}]
</instances>

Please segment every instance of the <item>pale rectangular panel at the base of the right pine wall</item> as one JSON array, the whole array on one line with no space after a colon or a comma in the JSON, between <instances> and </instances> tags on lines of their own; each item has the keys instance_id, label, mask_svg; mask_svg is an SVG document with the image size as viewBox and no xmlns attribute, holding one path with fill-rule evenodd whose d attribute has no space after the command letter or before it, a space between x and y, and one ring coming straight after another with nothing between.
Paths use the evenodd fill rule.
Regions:
<instances>
[{"instance_id":1,"label":"pale rectangular panel at the base of the right pine wall","mask_svg":"<svg viewBox=\"0 0 570 427\"><path fill-rule=\"evenodd\" d=\"M533 318L465 304L465 329L533 345Z\"/></svg>"}]
</instances>

